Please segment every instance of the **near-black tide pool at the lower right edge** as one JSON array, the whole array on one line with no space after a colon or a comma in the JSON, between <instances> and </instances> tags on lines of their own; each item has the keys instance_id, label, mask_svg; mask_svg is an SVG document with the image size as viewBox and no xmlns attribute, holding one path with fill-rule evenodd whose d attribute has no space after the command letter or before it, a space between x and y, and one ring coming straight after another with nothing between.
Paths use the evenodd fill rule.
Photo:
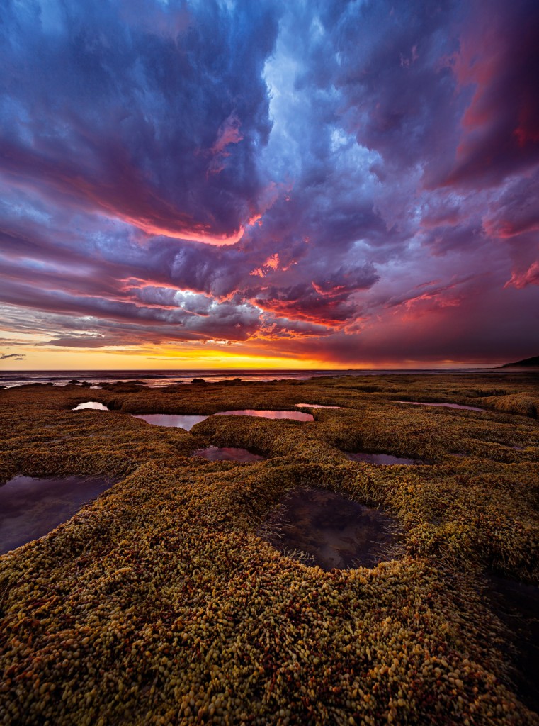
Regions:
<instances>
[{"instance_id":1,"label":"near-black tide pool at the lower right edge","mask_svg":"<svg viewBox=\"0 0 539 726\"><path fill-rule=\"evenodd\" d=\"M493 574L487 582L490 607L509 629L517 650L511 672L517 695L528 708L539 711L539 587Z\"/></svg>"}]
</instances>

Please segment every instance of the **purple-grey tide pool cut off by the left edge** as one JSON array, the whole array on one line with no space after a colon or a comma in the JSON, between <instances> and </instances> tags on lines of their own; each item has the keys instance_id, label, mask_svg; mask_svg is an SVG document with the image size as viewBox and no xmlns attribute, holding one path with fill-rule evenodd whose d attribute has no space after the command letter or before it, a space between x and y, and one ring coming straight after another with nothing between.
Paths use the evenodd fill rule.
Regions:
<instances>
[{"instance_id":1,"label":"purple-grey tide pool cut off by the left edge","mask_svg":"<svg viewBox=\"0 0 539 726\"><path fill-rule=\"evenodd\" d=\"M115 484L112 478L16 476L0 485L0 554L43 537L83 504Z\"/></svg>"}]
</instances>

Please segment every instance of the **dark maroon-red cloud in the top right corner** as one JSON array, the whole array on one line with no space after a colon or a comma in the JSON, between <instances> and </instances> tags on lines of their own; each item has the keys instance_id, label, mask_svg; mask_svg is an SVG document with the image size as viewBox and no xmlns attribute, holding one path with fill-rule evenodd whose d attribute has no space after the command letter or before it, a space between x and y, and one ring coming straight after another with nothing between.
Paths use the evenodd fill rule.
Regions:
<instances>
[{"instance_id":1,"label":"dark maroon-red cloud in the top right corner","mask_svg":"<svg viewBox=\"0 0 539 726\"><path fill-rule=\"evenodd\" d=\"M449 184L499 184L539 162L539 7L528 0L474 6L456 57L473 89Z\"/></svg>"}]
</instances>

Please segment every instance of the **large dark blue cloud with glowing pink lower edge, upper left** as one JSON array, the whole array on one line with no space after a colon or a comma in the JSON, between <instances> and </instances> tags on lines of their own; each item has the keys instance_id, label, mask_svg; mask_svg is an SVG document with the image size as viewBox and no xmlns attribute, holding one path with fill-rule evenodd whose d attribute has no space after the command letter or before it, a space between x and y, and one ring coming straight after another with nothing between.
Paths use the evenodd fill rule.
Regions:
<instances>
[{"instance_id":1,"label":"large dark blue cloud with glowing pink lower edge, upper left","mask_svg":"<svg viewBox=\"0 0 539 726\"><path fill-rule=\"evenodd\" d=\"M4 4L0 168L149 233L235 237L263 196L278 6L127 6Z\"/></svg>"}]
</instances>

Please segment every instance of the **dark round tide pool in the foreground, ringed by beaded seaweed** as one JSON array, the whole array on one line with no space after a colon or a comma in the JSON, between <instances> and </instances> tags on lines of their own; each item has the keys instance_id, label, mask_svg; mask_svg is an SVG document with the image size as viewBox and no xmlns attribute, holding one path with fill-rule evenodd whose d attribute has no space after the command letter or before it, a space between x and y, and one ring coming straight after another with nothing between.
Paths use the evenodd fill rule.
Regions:
<instances>
[{"instance_id":1,"label":"dark round tide pool in the foreground, ringed by beaded seaweed","mask_svg":"<svg viewBox=\"0 0 539 726\"><path fill-rule=\"evenodd\" d=\"M268 516L263 535L279 552L309 566L375 567L401 539L398 521L333 492L296 489ZM296 550L296 552L294 552Z\"/></svg>"}]
</instances>

